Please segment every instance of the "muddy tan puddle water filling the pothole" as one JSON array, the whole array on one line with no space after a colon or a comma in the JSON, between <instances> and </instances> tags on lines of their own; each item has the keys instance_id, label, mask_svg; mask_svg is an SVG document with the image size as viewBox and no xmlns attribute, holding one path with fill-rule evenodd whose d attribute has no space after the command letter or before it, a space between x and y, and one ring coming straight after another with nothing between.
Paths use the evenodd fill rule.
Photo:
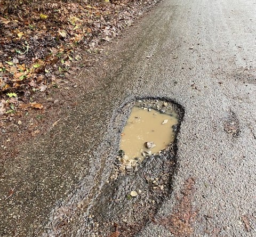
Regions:
<instances>
[{"instance_id":1,"label":"muddy tan puddle water filling the pothole","mask_svg":"<svg viewBox=\"0 0 256 237\"><path fill-rule=\"evenodd\" d=\"M123 162L133 164L148 154L157 153L174 140L172 126L178 124L177 114L166 115L154 109L134 106L121 134L120 149L124 151ZM145 142L154 142L151 149ZM134 159L135 158L135 159Z\"/></svg>"}]
</instances>

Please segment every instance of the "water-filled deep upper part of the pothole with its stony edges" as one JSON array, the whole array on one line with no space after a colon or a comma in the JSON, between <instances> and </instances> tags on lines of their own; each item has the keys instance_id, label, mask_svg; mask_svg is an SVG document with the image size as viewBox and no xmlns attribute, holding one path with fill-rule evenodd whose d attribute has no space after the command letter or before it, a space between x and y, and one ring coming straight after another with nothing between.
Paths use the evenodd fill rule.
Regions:
<instances>
[{"instance_id":1,"label":"water-filled deep upper part of the pothole with its stony edges","mask_svg":"<svg viewBox=\"0 0 256 237\"><path fill-rule=\"evenodd\" d=\"M167 102L136 102L121 134L119 160L123 167L135 166L166 149L174 141L178 122L179 115Z\"/></svg>"}]
</instances>

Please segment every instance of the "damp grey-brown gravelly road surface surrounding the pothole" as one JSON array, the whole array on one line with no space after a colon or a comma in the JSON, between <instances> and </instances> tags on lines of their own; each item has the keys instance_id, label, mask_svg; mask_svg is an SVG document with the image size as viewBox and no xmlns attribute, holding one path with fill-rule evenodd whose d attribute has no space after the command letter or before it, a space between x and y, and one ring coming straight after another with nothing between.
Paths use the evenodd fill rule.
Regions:
<instances>
[{"instance_id":1,"label":"damp grey-brown gravelly road surface surrounding the pothole","mask_svg":"<svg viewBox=\"0 0 256 237\"><path fill-rule=\"evenodd\" d=\"M256 236L255 15L254 0L170 0L126 30L108 75L6 162L0 236L121 236L118 223L100 235L91 210L108 203L120 134L147 97L185 113L170 192L134 236Z\"/></svg>"}]
</instances>

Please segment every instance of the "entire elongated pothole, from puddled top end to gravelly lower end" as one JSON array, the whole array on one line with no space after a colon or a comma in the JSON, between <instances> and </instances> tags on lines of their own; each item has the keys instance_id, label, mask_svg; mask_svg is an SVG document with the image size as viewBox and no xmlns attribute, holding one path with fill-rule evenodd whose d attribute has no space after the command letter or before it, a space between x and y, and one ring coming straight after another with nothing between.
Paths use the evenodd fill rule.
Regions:
<instances>
[{"instance_id":1,"label":"entire elongated pothole, from puddled top end to gravelly lower end","mask_svg":"<svg viewBox=\"0 0 256 237\"><path fill-rule=\"evenodd\" d=\"M154 142L156 146L160 144L159 141L154 140L154 137L143 138L138 146L139 150L132 149L131 154L127 148L129 146L133 148L135 145L131 144L126 148L121 141L121 148L126 152L119 151L113 162L113 170L109 179L90 203L84 219L87 231L85 236L134 236L150 220L154 220L157 210L171 194L172 177L177 162L176 135L183 118L183 109L178 104L158 99L139 100L135 104L130 104L130 108L132 105L135 107L131 111L131 119L137 119L135 117L142 119L141 114L132 118L134 111L143 111L146 118L157 113L155 115L159 117L157 127L164 127L164 130L168 130L166 133L168 139L164 139L164 142L161 142L162 145L158 145L157 150L152 150L146 156L142 152L151 151L151 149L141 148L141 146L145 142ZM127 111L120 112L127 115ZM128 119L126 124L129 122ZM152 125L153 122L149 119L149 129L152 129ZM137 129L135 130L137 133ZM121 133L126 133L126 130L121 128ZM152 133L156 133L156 128ZM123 140L124 135L121 137ZM124 159L125 153L127 159Z\"/></svg>"}]
</instances>

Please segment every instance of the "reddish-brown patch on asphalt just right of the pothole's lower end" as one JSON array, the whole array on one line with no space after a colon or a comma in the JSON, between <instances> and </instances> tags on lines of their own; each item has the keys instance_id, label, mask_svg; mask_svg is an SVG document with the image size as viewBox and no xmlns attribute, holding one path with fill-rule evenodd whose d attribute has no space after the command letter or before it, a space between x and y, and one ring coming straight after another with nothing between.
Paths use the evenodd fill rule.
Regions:
<instances>
[{"instance_id":1,"label":"reddish-brown patch on asphalt just right of the pothole's lower end","mask_svg":"<svg viewBox=\"0 0 256 237\"><path fill-rule=\"evenodd\" d=\"M165 226L174 236L188 237L193 234L192 224L197 215L192 206L194 185L193 178L187 179L182 190L183 197L178 199L179 202L174 207L173 213L154 220L155 223Z\"/></svg>"}]
</instances>

